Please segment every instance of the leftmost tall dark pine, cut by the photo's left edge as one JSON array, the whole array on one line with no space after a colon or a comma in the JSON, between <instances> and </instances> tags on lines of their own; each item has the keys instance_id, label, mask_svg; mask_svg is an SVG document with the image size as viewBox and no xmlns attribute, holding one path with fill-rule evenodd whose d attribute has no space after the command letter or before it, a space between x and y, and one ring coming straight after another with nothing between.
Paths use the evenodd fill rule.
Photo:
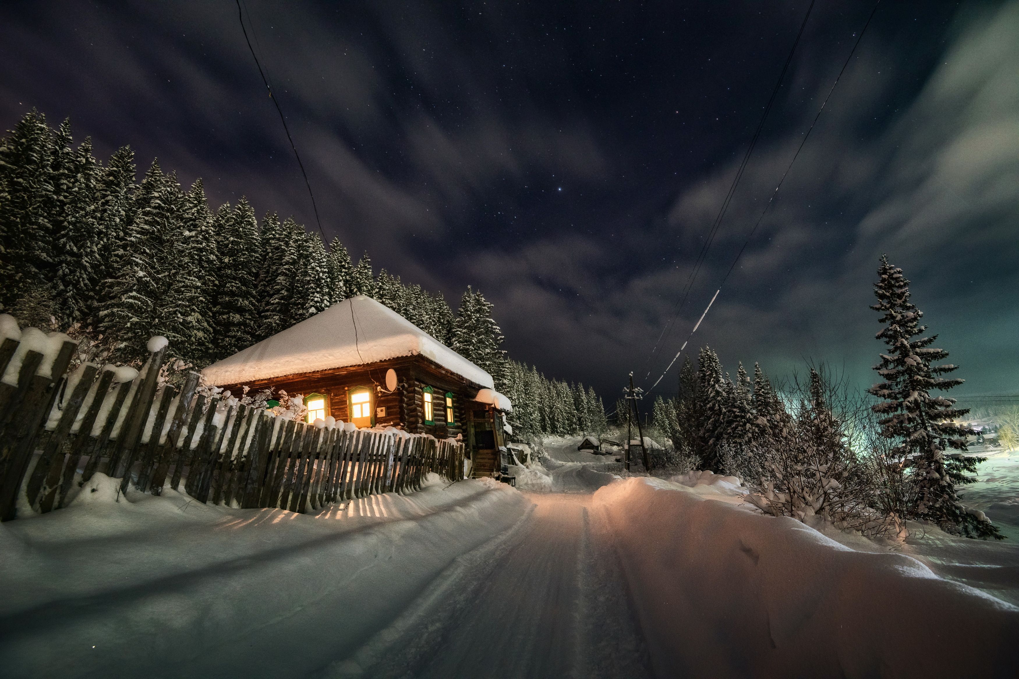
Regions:
<instances>
[{"instance_id":1,"label":"leftmost tall dark pine, cut by the photo's left edge","mask_svg":"<svg viewBox=\"0 0 1019 679\"><path fill-rule=\"evenodd\" d=\"M52 267L50 129L33 109L0 143L0 306L46 291Z\"/></svg>"}]
</instances>

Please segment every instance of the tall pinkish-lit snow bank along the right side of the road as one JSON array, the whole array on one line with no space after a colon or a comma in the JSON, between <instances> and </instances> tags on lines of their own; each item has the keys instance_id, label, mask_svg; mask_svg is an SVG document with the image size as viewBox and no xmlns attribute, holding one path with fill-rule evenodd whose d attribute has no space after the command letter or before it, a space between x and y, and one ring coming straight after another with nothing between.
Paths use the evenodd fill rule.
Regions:
<instances>
[{"instance_id":1,"label":"tall pinkish-lit snow bank along the right side of the road","mask_svg":"<svg viewBox=\"0 0 1019 679\"><path fill-rule=\"evenodd\" d=\"M653 478L594 495L659 676L1013 677L1019 609Z\"/></svg>"}]
</instances>

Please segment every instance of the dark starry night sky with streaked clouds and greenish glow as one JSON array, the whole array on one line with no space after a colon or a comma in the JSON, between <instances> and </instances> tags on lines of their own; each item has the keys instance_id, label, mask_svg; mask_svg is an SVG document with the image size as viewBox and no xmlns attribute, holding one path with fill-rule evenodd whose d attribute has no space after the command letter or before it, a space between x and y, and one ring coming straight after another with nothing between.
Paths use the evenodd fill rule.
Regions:
<instances>
[{"instance_id":1,"label":"dark starry night sky with streaked clouds and greenish glow","mask_svg":"<svg viewBox=\"0 0 1019 679\"><path fill-rule=\"evenodd\" d=\"M453 306L480 288L511 356L614 399L690 332L872 7L816 3L649 360L808 4L247 0L246 20L326 236ZM957 392L1019 392L1017 36L1019 2L882 2L691 344L729 371L826 361L867 386L887 252ZM4 2L0 59L4 129L70 116L104 160L129 144L140 175L158 157L214 203L315 228L232 0Z\"/></svg>"}]
</instances>

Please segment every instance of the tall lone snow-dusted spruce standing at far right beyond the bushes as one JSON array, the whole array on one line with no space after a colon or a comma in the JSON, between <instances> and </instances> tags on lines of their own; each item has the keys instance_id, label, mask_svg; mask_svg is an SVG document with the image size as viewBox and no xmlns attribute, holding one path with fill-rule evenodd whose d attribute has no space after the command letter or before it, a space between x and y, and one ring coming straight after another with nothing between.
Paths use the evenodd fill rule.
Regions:
<instances>
[{"instance_id":1,"label":"tall lone snow-dusted spruce standing at far right beyond the bushes","mask_svg":"<svg viewBox=\"0 0 1019 679\"><path fill-rule=\"evenodd\" d=\"M881 257L874 285L877 303L871 308L881 313L884 327L877 339L889 347L874 366L884 380L868 391L883 399L872 406L881 415L881 434L898 442L894 454L906 462L917 485L916 517L933 521L970 537L1003 535L982 514L969 511L960 502L956 486L972 483L966 473L976 471L981 458L945 455L949 448L965 451L968 430L955 423L968 408L956 408L955 399L931 396L962 384L963 380L940 376L957 369L944 360L948 351L932 346L936 335L923 337L927 327L920 325L923 313L910 301L909 281L902 269ZM919 338L919 339L914 339Z\"/></svg>"}]
</instances>

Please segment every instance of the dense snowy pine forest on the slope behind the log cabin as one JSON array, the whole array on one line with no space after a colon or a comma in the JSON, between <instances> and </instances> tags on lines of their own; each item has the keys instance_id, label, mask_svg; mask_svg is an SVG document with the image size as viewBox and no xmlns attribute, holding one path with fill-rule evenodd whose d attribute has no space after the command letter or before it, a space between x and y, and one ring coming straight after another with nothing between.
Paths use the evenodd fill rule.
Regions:
<instances>
[{"instance_id":1,"label":"dense snowy pine forest on the slope behind the log cabin","mask_svg":"<svg viewBox=\"0 0 1019 679\"><path fill-rule=\"evenodd\" d=\"M600 433L590 387L545 378L509 359L492 303L470 286L453 313L441 292L355 264L338 238L251 204L209 206L154 160L138 181L122 147L103 164L69 120L52 129L26 114L0 142L0 312L67 332L90 360L141 364L166 337L178 367L203 367L328 306L364 294L490 373L515 403L523 437ZM525 397L526 396L526 397Z\"/></svg>"}]
</instances>

